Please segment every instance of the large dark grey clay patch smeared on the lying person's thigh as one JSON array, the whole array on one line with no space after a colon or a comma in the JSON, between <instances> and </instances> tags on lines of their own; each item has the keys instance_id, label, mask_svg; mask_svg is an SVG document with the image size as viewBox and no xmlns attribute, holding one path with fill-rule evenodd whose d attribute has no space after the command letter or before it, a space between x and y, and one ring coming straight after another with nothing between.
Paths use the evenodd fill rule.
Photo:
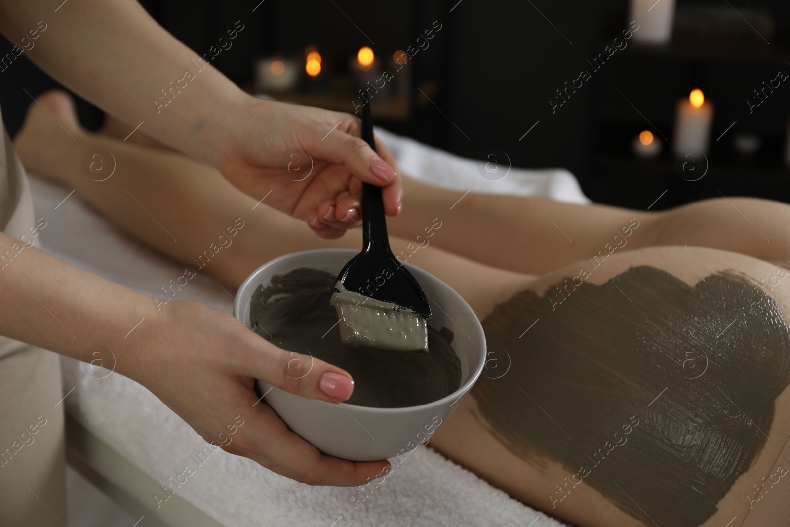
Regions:
<instances>
[{"instance_id":1,"label":"large dark grey clay patch smeared on the lying person's thigh","mask_svg":"<svg viewBox=\"0 0 790 527\"><path fill-rule=\"evenodd\" d=\"M583 481L645 525L712 516L758 457L790 383L781 309L736 273L692 288L634 267L581 284L555 311L520 292L483 329L487 348L512 360L507 375L483 376L472 391L484 423L518 457L574 475L547 506L573 499Z\"/></svg>"}]
</instances>

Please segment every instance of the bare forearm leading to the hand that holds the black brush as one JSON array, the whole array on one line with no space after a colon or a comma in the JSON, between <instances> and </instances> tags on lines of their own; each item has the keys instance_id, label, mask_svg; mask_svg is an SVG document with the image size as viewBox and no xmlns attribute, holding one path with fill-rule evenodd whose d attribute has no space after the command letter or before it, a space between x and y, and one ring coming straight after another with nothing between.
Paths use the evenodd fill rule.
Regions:
<instances>
[{"instance_id":1,"label":"bare forearm leading to the hand that holds the black brush","mask_svg":"<svg viewBox=\"0 0 790 527\"><path fill-rule=\"evenodd\" d=\"M243 92L169 36L137 2L60 4L2 2L0 30L15 42L27 37L34 43L26 51L29 58L85 99L132 126L143 122L146 134L216 166L230 141L222 137L228 126L220 121L240 114L231 97L241 100ZM46 29L31 41L28 32L39 21ZM194 79L180 81L187 70ZM167 102L163 89L172 89L167 107L154 103Z\"/></svg>"}]
</instances>

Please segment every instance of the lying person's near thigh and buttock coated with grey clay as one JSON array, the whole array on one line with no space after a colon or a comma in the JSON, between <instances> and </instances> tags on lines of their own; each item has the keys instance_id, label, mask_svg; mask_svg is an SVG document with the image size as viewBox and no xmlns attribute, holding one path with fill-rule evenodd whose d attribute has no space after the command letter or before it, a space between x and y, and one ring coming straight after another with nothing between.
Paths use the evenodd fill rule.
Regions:
<instances>
[{"instance_id":1,"label":"lying person's near thigh and buttock coated with grey clay","mask_svg":"<svg viewBox=\"0 0 790 527\"><path fill-rule=\"evenodd\" d=\"M487 368L432 444L510 495L583 526L735 526L783 475L785 269L656 247L496 304Z\"/></svg>"}]
</instances>

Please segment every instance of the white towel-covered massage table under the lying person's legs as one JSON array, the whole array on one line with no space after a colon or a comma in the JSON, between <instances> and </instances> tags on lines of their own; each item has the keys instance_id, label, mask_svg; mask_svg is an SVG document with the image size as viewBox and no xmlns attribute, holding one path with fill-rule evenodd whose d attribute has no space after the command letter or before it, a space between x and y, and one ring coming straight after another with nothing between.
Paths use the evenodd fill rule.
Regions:
<instances>
[{"instance_id":1,"label":"white towel-covered massage table under the lying person's legs","mask_svg":"<svg viewBox=\"0 0 790 527\"><path fill-rule=\"evenodd\" d=\"M494 181L506 166L498 167L495 177L483 177L480 161L386 130L377 134L402 171L456 189L459 197L472 190L590 202L568 171L512 168ZM72 189L36 175L30 179L36 217L47 220L40 239L51 254L146 295L156 296L162 284L182 273L182 264L124 235L77 194L70 195ZM525 200L524 206L534 205ZM198 273L179 291L179 299L197 300L227 313L232 312L233 295L235 291L205 273ZM358 487L310 487L223 450L197 465L193 456L207 443L145 387L109 371L91 371L86 363L66 357L62 357L62 378L69 464L135 518L145 516L141 525L566 525L511 499L424 446L359 503ZM197 469L178 487L171 484L170 478L177 479L185 465ZM169 496L162 491L165 484L175 489Z\"/></svg>"}]
</instances>

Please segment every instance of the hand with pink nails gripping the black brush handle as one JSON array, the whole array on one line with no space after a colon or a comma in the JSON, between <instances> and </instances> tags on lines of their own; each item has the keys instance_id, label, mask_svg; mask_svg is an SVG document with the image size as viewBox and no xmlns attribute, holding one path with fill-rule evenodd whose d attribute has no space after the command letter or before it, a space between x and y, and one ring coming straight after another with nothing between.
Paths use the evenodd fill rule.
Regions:
<instances>
[{"instance_id":1,"label":"hand with pink nails gripping the black brush handle","mask_svg":"<svg viewBox=\"0 0 790 527\"><path fill-rule=\"evenodd\" d=\"M217 164L234 186L307 221L322 238L359 225L363 182L382 187L387 216L401 212L397 164L381 141L374 150L360 138L357 117L248 96L245 104L251 120L236 109L243 121L234 121L233 140Z\"/></svg>"}]
</instances>

